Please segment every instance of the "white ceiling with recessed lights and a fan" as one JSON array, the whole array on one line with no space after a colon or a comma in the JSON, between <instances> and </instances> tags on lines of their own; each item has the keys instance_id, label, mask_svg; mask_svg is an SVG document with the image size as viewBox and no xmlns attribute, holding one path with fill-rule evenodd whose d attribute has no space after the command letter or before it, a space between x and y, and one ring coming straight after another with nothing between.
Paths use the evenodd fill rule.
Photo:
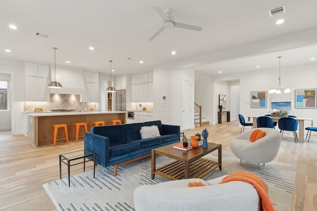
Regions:
<instances>
[{"instance_id":1,"label":"white ceiling with recessed lights and a fan","mask_svg":"<svg viewBox=\"0 0 317 211\"><path fill-rule=\"evenodd\" d=\"M269 9L283 4L286 13L269 17ZM149 41L163 24L156 6L172 8L174 21L201 26L202 31L166 29ZM108 61L113 60L114 75L150 71L159 64L315 28L316 8L316 0L0 0L0 57L53 64L57 47L57 65L108 74ZM275 25L281 18L285 23ZM172 50L177 54L171 55ZM274 68L277 56L283 56L283 66L312 63L317 45L193 69L216 75L252 71L257 65Z\"/></svg>"}]
</instances>

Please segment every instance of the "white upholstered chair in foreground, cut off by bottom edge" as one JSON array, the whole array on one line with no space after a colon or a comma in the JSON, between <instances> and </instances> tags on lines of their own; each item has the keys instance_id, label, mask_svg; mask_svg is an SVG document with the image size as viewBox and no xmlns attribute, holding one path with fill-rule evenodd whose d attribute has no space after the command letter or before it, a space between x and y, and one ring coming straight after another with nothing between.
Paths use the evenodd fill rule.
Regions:
<instances>
[{"instance_id":1,"label":"white upholstered chair in foreground, cut off by bottom edge","mask_svg":"<svg viewBox=\"0 0 317 211\"><path fill-rule=\"evenodd\" d=\"M258 211L260 197L252 184L232 181L218 184L222 178L181 179L135 189L136 211ZM206 186L188 187L202 181Z\"/></svg>"}]
</instances>

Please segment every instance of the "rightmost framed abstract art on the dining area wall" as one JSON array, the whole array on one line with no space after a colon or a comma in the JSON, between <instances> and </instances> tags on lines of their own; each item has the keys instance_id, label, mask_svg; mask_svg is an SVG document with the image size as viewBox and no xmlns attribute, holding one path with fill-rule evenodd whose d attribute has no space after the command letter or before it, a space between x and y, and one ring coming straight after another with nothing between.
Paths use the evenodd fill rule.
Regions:
<instances>
[{"instance_id":1,"label":"rightmost framed abstract art on the dining area wall","mask_svg":"<svg viewBox=\"0 0 317 211\"><path fill-rule=\"evenodd\" d=\"M316 88L296 89L295 108L316 108Z\"/></svg>"}]
</instances>

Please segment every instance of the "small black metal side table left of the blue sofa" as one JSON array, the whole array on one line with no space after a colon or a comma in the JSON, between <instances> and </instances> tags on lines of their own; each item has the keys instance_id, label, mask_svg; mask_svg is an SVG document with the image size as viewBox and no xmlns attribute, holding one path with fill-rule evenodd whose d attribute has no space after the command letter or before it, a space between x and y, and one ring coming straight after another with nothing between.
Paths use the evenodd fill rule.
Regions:
<instances>
[{"instance_id":1,"label":"small black metal side table left of the blue sofa","mask_svg":"<svg viewBox=\"0 0 317 211\"><path fill-rule=\"evenodd\" d=\"M86 160L87 158L87 160ZM79 159L84 159L83 162L75 163L75 164L70 164L71 161L79 160ZM69 152L65 154L60 154L59 155L59 178L61 179L61 162L67 165L68 169L68 187L70 187L70 167L75 166L78 164L84 164L84 172L85 172L85 163L88 161L93 161L94 162L94 178L95 178L95 169L96 169L96 154L89 152L88 150L78 150L74 152Z\"/></svg>"}]
</instances>

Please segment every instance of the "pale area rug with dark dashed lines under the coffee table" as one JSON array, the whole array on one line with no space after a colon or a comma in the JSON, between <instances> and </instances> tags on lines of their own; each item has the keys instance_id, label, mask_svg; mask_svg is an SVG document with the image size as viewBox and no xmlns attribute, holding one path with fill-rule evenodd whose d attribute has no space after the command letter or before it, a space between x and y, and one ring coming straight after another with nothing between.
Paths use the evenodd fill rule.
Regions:
<instances>
[{"instance_id":1,"label":"pale area rug with dark dashed lines under the coffee table","mask_svg":"<svg viewBox=\"0 0 317 211\"><path fill-rule=\"evenodd\" d=\"M217 152L204 158L217 160ZM157 156L157 167L172 162L172 159ZM268 186L268 194L276 211L291 209L296 166L270 162L265 166L242 163L231 152L222 151L222 170L212 170L205 180L230 174L236 170L250 171L260 176ZM167 181L155 176L151 179L151 157L126 164L118 168L113 176L113 167L97 168L96 177L92 170L44 184L53 203L59 211L134 211L133 192L140 185L153 185Z\"/></svg>"}]
</instances>

